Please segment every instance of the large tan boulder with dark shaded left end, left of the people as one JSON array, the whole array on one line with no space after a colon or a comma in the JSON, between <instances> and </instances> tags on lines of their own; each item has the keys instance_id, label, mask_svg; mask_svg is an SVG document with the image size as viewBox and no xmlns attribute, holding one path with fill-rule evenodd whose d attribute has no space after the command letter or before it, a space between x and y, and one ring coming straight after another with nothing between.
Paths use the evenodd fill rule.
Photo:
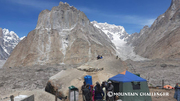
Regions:
<instances>
[{"instance_id":1,"label":"large tan boulder with dark shaded left end, left of the people","mask_svg":"<svg viewBox=\"0 0 180 101\"><path fill-rule=\"evenodd\" d=\"M83 72L76 69L62 70L56 75L52 76L46 84L45 91L55 95L58 89L58 97L64 98L68 95L68 87L71 85L80 87L83 78Z\"/></svg>"}]
</instances>

